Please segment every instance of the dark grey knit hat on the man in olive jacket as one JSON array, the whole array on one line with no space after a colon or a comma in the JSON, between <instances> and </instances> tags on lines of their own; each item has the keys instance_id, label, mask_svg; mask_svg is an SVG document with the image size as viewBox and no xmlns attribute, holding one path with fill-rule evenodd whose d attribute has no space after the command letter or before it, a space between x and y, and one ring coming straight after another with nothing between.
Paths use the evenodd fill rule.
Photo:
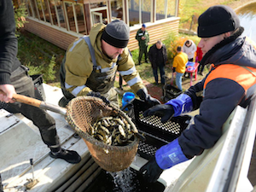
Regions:
<instances>
[{"instance_id":1,"label":"dark grey knit hat on the man in olive jacket","mask_svg":"<svg viewBox=\"0 0 256 192\"><path fill-rule=\"evenodd\" d=\"M125 48L129 38L130 28L123 20L113 20L102 33L102 40L116 48Z\"/></svg>"}]
</instances>

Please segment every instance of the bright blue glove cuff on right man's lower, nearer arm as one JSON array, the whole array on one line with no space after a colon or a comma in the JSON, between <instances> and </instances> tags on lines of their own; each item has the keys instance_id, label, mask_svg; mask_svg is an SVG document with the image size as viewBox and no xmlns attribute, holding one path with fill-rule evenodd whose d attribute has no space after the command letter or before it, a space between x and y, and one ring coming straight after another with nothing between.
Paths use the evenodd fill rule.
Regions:
<instances>
[{"instance_id":1,"label":"bright blue glove cuff on right man's lower, nearer arm","mask_svg":"<svg viewBox=\"0 0 256 192\"><path fill-rule=\"evenodd\" d=\"M173 140L158 149L155 154L155 160L161 169L168 169L186 160L189 160L178 144L178 139Z\"/></svg>"}]
</instances>

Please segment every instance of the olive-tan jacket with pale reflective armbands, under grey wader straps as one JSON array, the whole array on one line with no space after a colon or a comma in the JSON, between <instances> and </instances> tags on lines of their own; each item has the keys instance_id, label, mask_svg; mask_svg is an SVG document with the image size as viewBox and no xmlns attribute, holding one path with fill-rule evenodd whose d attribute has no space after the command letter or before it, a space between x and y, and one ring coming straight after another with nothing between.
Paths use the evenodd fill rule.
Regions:
<instances>
[{"instance_id":1,"label":"olive-tan jacket with pale reflective armbands, under grey wader straps","mask_svg":"<svg viewBox=\"0 0 256 192\"><path fill-rule=\"evenodd\" d=\"M107 73L113 68L113 63L116 63L117 59L111 59L107 55L102 53L102 32L105 25L98 24L94 26L90 31L90 43L95 50L97 70L96 73ZM87 95L90 90L96 90L95 87L87 84L87 80L90 78L93 72L93 63L88 45L84 42L84 39L76 39L73 44L70 44L67 49L66 62L65 62L66 89L76 96ZM134 61L131 58L129 50L125 48L124 52L120 55L119 66L117 70L123 75L123 78L131 86L134 92L144 87L143 81L140 78L135 68ZM113 77L110 78L114 81L115 73L112 73Z\"/></svg>"}]
</instances>

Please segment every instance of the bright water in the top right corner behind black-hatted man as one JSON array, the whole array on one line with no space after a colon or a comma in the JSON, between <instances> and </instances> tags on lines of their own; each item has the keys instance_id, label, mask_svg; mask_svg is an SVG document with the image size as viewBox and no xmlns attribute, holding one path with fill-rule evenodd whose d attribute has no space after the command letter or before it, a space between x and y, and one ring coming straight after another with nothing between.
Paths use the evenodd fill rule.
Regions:
<instances>
[{"instance_id":1,"label":"bright water in the top right corner behind black-hatted man","mask_svg":"<svg viewBox=\"0 0 256 192\"><path fill-rule=\"evenodd\" d=\"M245 28L244 35L256 42L256 3L250 3L236 11L240 25Z\"/></svg>"}]
</instances>

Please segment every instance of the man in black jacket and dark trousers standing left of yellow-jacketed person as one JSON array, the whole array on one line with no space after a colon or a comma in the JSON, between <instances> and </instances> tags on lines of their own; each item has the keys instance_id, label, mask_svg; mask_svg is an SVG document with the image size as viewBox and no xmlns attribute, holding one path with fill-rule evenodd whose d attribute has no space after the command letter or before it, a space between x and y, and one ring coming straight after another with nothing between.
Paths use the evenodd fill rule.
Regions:
<instances>
[{"instance_id":1,"label":"man in black jacket and dark trousers standing left of yellow-jacketed person","mask_svg":"<svg viewBox=\"0 0 256 192\"><path fill-rule=\"evenodd\" d=\"M165 84L165 65L167 61L166 45L161 41L153 44L148 51L148 58L153 69L155 84L158 84L158 68L160 70L161 84Z\"/></svg>"}]
</instances>

